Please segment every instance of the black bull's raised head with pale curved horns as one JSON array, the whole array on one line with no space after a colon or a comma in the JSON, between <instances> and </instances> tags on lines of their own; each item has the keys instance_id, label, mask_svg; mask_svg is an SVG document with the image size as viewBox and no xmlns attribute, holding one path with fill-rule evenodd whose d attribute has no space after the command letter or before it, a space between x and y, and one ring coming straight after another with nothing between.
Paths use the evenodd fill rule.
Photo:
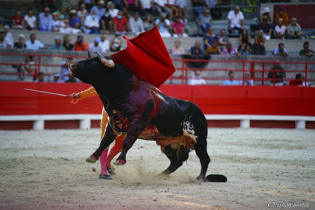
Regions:
<instances>
[{"instance_id":1,"label":"black bull's raised head with pale curved horns","mask_svg":"<svg viewBox=\"0 0 315 210\"><path fill-rule=\"evenodd\" d=\"M110 58L103 57L99 52L95 52L97 57L92 58L88 51L88 60L82 60L69 65L69 70L73 77L92 84L99 81L100 78L106 77L106 74L114 70L115 63Z\"/></svg>"}]
</instances>

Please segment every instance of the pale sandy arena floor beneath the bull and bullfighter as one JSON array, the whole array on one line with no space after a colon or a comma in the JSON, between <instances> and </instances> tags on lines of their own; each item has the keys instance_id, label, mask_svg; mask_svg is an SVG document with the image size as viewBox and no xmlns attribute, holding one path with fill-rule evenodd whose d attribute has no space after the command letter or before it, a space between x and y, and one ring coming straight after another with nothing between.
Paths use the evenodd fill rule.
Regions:
<instances>
[{"instance_id":1,"label":"pale sandy arena floor beneath the bull and bullfighter","mask_svg":"<svg viewBox=\"0 0 315 210\"><path fill-rule=\"evenodd\" d=\"M315 130L209 129L208 174L226 183L196 183L195 152L169 180L155 142L137 140L127 164L102 180L100 162L85 162L99 129L0 131L0 209L270 209L269 202L315 209ZM92 171L92 168L96 172ZM292 204L293 205L293 204Z\"/></svg>"}]
</instances>

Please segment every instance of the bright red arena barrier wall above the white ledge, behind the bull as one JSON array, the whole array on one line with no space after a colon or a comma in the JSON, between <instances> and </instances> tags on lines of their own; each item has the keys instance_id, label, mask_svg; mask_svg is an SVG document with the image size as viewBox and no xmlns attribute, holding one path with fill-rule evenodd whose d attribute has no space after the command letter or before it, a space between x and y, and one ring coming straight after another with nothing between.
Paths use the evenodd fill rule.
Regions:
<instances>
[{"instance_id":1,"label":"bright red arena barrier wall above the white ledge, behind the bull","mask_svg":"<svg viewBox=\"0 0 315 210\"><path fill-rule=\"evenodd\" d=\"M70 95L89 87L84 83L0 82L0 115L100 114L97 96L71 104L67 97L24 90ZM315 88L163 85L160 90L195 102L204 114L315 116Z\"/></svg>"}]
</instances>

